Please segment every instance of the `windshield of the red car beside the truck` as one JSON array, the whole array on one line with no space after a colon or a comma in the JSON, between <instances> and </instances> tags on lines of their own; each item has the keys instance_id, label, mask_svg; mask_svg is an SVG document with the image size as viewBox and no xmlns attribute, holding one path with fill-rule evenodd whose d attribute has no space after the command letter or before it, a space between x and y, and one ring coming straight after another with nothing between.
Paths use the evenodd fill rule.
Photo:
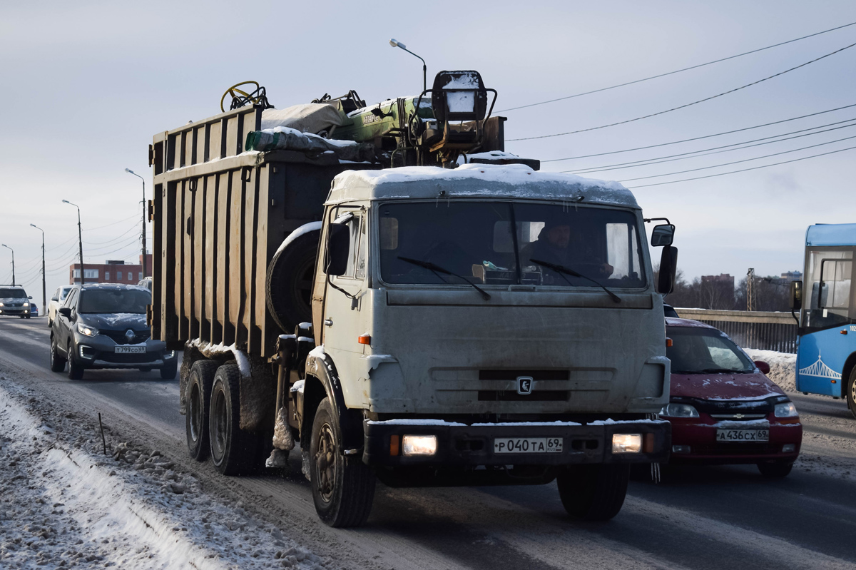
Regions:
<instances>
[{"instance_id":1,"label":"windshield of the red car beside the truck","mask_svg":"<svg viewBox=\"0 0 856 570\"><path fill-rule=\"evenodd\" d=\"M672 346L666 356L673 374L752 372L755 365L734 341L716 329L666 327Z\"/></svg>"}]
</instances>

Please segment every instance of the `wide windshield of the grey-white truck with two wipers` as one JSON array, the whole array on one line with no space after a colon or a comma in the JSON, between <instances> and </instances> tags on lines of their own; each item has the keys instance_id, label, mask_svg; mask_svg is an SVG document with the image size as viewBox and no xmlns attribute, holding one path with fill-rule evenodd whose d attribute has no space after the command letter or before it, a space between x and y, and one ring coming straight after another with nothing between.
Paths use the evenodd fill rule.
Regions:
<instances>
[{"instance_id":1,"label":"wide windshield of the grey-white truck with two wipers","mask_svg":"<svg viewBox=\"0 0 856 570\"><path fill-rule=\"evenodd\" d=\"M401 259L411 258L485 285L595 287L593 279L608 288L645 287L632 211L519 202L394 203L380 206L378 234L387 283L461 284Z\"/></svg>"}]
</instances>

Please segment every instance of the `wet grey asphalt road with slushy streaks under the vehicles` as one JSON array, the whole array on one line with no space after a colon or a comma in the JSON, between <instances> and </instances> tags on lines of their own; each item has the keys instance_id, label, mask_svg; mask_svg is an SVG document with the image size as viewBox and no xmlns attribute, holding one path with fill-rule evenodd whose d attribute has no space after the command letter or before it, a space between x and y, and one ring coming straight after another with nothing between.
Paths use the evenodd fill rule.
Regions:
<instances>
[{"instance_id":1,"label":"wet grey asphalt road with slushy streaks under the vehicles","mask_svg":"<svg viewBox=\"0 0 856 570\"><path fill-rule=\"evenodd\" d=\"M48 339L45 318L0 318L0 362L48 389L109 405L134 430L181 453L177 380L157 371L86 371L73 382L49 370ZM805 436L788 478L766 480L754 466L671 467L659 484L633 481L621 514L597 525L569 521L555 484L378 485L366 527L337 531L313 518L294 453L284 477L217 479L210 466L195 468L222 479L223 489L286 534L315 549L350 549L354 567L856 568L856 420L841 401L792 397Z\"/></svg>"}]
</instances>

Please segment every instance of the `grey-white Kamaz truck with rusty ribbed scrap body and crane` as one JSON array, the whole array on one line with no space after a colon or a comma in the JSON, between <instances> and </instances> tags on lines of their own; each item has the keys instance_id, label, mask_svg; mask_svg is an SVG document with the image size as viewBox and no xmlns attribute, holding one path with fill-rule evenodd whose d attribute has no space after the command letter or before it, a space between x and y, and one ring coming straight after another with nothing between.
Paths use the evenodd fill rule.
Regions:
<instances>
[{"instance_id":1,"label":"grey-white Kamaz truck with rusty ribbed scrap body and crane","mask_svg":"<svg viewBox=\"0 0 856 570\"><path fill-rule=\"evenodd\" d=\"M633 194L505 152L473 71L377 105L232 94L150 148L149 319L184 350L189 453L224 475L299 454L332 526L378 480L556 480L571 516L615 516L630 466L669 454L675 227L655 279Z\"/></svg>"}]
</instances>

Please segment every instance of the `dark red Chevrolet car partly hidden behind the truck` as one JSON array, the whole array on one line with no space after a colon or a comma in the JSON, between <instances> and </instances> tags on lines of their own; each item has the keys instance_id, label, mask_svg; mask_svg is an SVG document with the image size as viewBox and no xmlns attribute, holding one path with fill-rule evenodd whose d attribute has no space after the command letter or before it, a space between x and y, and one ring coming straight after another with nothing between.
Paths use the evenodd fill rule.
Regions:
<instances>
[{"instance_id":1,"label":"dark red Chevrolet car partly hidden behind the truck","mask_svg":"<svg viewBox=\"0 0 856 570\"><path fill-rule=\"evenodd\" d=\"M666 318L666 355L672 361L669 463L755 463L765 477L785 477L800 454L802 425L796 407L720 330ZM670 345L670 346L669 346Z\"/></svg>"}]
</instances>

